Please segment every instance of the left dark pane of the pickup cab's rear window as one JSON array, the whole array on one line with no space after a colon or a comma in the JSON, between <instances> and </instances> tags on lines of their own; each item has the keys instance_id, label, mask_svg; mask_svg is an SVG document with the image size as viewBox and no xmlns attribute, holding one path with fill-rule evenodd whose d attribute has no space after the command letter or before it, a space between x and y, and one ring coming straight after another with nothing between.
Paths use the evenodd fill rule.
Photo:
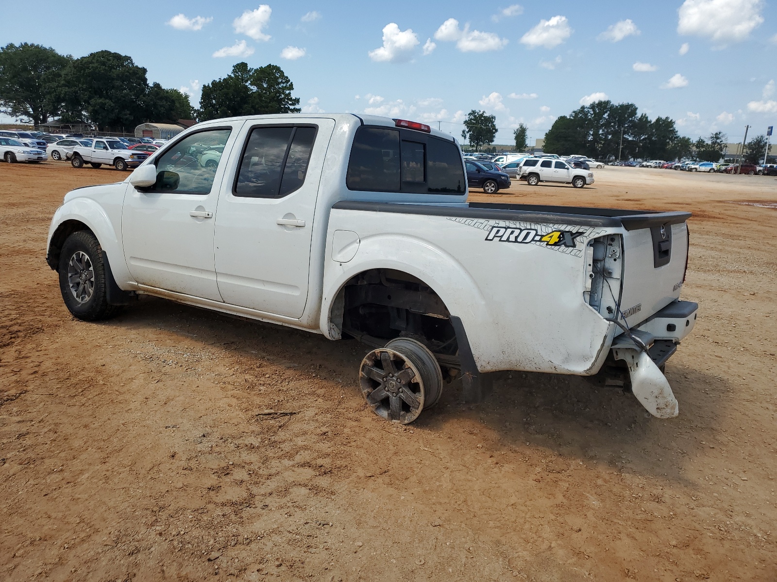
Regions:
<instances>
[{"instance_id":1,"label":"left dark pane of the pickup cab's rear window","mask_svg":"<svg viewBox=\"0 0 777 582\"><path fill-rule=\"evenodd\" d=\"M399 192L399 131L360 127L350 150L350 190Z\"/></svg>"}]
</instances>

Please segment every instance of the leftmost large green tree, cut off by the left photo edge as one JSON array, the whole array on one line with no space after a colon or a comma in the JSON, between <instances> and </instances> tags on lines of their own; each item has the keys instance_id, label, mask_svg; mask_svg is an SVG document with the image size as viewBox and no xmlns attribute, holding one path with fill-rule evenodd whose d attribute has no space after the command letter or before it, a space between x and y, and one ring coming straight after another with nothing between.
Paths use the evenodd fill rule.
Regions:
<instances>
[{"instance_id":1,"label":"leftmost large green tree, cut off by the left photo edge","mask_svg":"<svg viewBox=\"0 0 777 582\"><path fill-rule=\"evenodd\" d=\"M13 43L0 48L0 112L36 126L57 115L61 74L72 57L40 44Z\"/></svg>"}]
</instances>

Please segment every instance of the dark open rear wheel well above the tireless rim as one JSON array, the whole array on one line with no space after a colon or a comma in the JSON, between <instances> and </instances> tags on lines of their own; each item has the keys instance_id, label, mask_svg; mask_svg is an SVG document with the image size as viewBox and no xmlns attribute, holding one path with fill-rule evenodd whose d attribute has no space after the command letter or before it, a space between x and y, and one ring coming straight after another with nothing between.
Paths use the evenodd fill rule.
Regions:
<instances>
[{"instance_id":1,"label":"dark open rear wheel well above the tireless rim","mask_svg":"<svg viewBox=\"0 0 777 582\"><path fill-rule=\"evenodd\" d=\"M448 307L434 289L406 272L375 268L352 277L337 294L329 320L332 331L372 347L394 338L420 341L448 380L460 369Z\"/></svg>"}]
</instances>

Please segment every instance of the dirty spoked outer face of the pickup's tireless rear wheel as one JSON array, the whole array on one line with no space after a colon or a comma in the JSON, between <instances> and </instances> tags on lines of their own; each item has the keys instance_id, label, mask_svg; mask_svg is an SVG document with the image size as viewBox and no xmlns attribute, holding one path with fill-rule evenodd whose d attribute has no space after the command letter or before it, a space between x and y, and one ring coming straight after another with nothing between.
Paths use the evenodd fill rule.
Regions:
<instances>
[{"instance_id":1,"label":"dirty spoked outer face of the pickup's tireless rear wheel","mask_svg":"<svg viewBox=\"0 0 777 582\"><path fill-rule=\"evenodd\" d=\"M423 411L421 374L399 352L378 348L365 355L359 385L372 411L387 421L409 424Z\"/></svg>"}]
</instances>

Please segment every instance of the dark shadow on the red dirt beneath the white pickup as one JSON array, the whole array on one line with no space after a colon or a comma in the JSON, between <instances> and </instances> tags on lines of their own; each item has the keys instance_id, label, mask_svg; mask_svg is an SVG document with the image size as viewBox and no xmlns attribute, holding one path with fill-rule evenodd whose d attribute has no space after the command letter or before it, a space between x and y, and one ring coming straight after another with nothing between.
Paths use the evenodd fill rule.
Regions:
<instances>
[{"instance_id":1,"label":"dark shadow on the red dirt beneath the white pickup","mask_svg":"<svg viewBox=\"0 0 777 582\"><path fill-rule=\"evenodd\" d=\"M149 336L168 332L172 341L221 352L241 368L276 365L315 371L319 379L343 386L350 411L372 416L357 380L369 349L355 340L329 341L319 334L153 297L143 297L137 306L102 325L115 327L117 334L123 327ZM667 364L667 378L680 404L678 418L651 417L632 394L618 387L592 386L577 376L495 372L490 375L493 391L483 403L462 404L462 383L455 381L444 386L440 403L424 411L413 428L449 435L487 432L503 449L544 449L566 462L685 481L683 473L702 456L702 449L713 446L730 452L736 444L721 442L717 430L723 420L720 411L731 400L730 383L685 367L678 355L675 361ZM306 406L304 393L294 398L297 406Z\"/></svg>"}]
</instances>

